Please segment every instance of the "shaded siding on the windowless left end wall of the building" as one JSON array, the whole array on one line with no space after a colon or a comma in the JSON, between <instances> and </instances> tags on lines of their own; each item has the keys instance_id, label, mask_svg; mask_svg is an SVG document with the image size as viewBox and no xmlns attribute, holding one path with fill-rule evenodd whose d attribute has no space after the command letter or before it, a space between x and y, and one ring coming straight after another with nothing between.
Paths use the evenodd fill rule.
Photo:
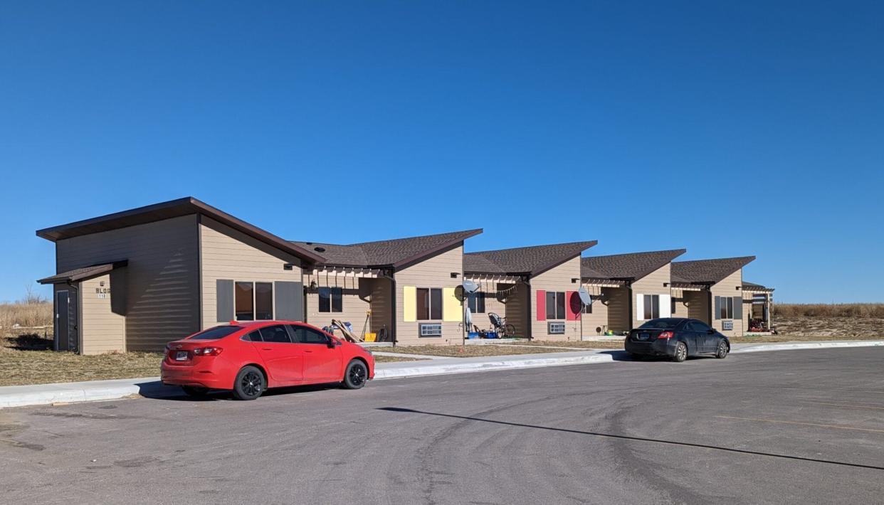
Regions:
<instances>
[{"instance_id":1,"label":"shaded siding on the windowless left end wall of the building","mask_svg":"<svg viewBox=\"0 0 884 505\"><path fill-rule=\"evenodd\" d=\"M57 272L115 260L129 261L125 268L127 350L162 350L166 343L199 328L196 215L56 243Z\"/></svg>"}]
</instances>

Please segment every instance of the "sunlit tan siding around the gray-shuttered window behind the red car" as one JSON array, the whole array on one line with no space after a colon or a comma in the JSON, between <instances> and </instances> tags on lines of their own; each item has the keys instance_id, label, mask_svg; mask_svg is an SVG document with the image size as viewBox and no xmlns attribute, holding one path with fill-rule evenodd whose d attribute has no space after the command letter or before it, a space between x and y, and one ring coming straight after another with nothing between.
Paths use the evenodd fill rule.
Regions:
<instances>
[{"instance_id":1,"label":"sunlit tan siding around the gray-shuttered window behind the red car","mask_svg":"<svg viewBox=\"0 0 884 505\"><path fill-rule=\"evenodd\" d=\"M299 258L205 216L202 216L199 231L202 258L202 328L224 322L217 320L218 279L253 283L301 283ZM286 270L286 263L291 263L293 268ZM273 298L275 304L275 292Z\"/></svg>"}]
</instances>

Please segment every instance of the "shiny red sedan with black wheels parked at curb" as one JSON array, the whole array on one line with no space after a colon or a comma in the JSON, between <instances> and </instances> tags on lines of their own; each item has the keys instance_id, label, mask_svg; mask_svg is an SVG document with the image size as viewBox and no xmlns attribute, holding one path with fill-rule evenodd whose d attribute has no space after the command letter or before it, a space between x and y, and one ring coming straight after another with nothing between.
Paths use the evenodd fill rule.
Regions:
<instances>
[{"instance_id":1,"label":"shiny red sedan with black wheels parked at curb","mask_svg":"<svg viewBox=\"0 0 884 505\"><path fill-rule=\"evenodd\" d=\"M340 382L358 389L375 376L375 358L354 343L293 321L231 321L166 345L164 384L191 396L229 389L254 400L266 388Z\"/></svg>"}]
</instances>

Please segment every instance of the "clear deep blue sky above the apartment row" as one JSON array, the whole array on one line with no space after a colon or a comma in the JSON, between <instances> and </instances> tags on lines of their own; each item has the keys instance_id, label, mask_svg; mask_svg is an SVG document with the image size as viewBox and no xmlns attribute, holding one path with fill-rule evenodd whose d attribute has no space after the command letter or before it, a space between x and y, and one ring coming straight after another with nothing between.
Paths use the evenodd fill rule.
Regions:
<instances>
[{"instance_id":1,"label":"clear deep blue sky above the apartment row","mask_svg":"<svg viewBox=\"0 0 884 505\"><path fill-rule=\"evenodd\" d=\"M4 2L0 300L34 230L193 195L282 237L753 254L884 301L876 2ZM45 291L48 292L48 291Z\"/></svg>"}]
</instances>

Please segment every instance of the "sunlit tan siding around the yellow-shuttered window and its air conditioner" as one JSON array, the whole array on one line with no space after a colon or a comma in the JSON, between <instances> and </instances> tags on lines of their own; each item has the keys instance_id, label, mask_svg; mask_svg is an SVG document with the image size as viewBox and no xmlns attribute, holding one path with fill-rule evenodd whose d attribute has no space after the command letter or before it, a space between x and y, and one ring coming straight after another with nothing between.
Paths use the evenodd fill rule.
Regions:
<instances>
[{"instance_id":1,"label":"sunlit tan siding around the yellow-shuttered window and its air conditioner","mask_svg":"<svg viewBox=\"0 0 884 505\"><path fill-rule=\"evenodd\" d=\"M458 274L452 278L452 272ZM461 285L463 278L463 243L441 252L428 260L403 268L395 273L396 279L396 340L403 345L408 344L442 344L461 343L462 334L459 322L453 321L417 321L406 322L404 318L403 288L415 286L417 288L456 288ZM442 324L441 337L420 338L418 325L421 323Z\"/></svg>"}]
</instances>

